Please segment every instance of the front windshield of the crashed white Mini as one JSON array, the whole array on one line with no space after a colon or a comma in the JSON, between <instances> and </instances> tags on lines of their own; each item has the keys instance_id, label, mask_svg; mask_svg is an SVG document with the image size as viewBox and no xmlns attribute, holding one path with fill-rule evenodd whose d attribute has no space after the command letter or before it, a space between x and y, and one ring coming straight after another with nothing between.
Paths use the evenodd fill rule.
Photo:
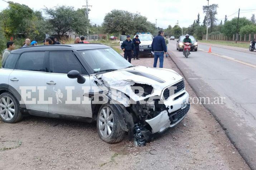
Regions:
<instances>
[{"instance_id":1,"label":"front windshield of the crashed white Mini","mask_svg":"<svg viewBox=\"0 0 256 170\"><path fill-rule=\"evenodd\" d=\"M112 48L83 50L79 52L94 72L132 67L131 63Z\"/></svg>"}]
</instances>

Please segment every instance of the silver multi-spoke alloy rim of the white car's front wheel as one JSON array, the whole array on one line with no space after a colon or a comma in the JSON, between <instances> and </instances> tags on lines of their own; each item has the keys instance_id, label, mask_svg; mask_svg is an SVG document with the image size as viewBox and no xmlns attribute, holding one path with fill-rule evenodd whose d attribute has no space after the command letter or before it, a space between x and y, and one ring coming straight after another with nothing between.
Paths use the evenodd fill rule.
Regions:
<instances>
[{"instance_id":1,"label":"silver multi-spoke alloy rim of the white car's front wheel","mask_svg":"<svg viewBox=\"0 0 256 170\"><path fill-rule=\"evenodd\" d=\"M98 119L98 128L104 138L108 138L111 135L113 130L113 121L114 119L111 109L107 106L103 107Z\"/></svg>"}]
</instances>

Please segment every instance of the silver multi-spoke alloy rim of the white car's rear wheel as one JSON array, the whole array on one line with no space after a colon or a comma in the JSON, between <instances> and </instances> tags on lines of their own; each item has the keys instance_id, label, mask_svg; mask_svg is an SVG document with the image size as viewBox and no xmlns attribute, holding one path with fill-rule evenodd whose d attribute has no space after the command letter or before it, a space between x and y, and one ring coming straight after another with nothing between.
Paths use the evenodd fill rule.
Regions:
<instances>
[{"instance_id":1,"label":"silver multi-spoke alloy rim of the white car's rear wheel","mask_svg":"<svg viewBox=\"0 0 256 170\"><path fill-rule=\"evenodd\" d=\"M15 106L11 98L3 96L0 98L0 116L5 120L11 120L15 114Z\"/></svg>"}]
</instances>

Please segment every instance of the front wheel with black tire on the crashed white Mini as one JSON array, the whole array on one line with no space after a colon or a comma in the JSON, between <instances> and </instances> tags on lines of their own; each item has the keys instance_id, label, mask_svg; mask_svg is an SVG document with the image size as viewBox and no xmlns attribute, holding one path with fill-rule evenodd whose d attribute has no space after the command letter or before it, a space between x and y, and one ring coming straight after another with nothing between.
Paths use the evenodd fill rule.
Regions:
<instances>
[{"instance_id":1,"label":"front wheel with black tire on the crashed white Mini","mask_svg":"<svg viewBox=\"0 0 256 170\"><path fill-rule=\"evenodd\" d=\"M116 116L116 114L121 113L113 112L113 110L116 110L113 107L115 107L113 104L103 104L97 116L97 133L107 143L120 142L125 134Z\"/></svg>"}]
</instances>

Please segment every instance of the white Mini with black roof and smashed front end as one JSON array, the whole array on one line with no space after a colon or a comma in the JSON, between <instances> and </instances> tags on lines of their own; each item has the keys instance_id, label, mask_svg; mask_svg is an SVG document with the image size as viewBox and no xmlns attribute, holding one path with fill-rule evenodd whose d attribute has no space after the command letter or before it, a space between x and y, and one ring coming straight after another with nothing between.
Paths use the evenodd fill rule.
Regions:
<instances>
[{"instance_id":1,"label":"white Mini with black roof and smashed front end","mask_svg":"<svg viewBox=\"0 0 256 170\"><path fill-rule=\"evenodd\" d=\"M108 143L128 134L144 145L177 125L190 107L177 72L132 66L101 44L20 48L4 61L0 77L3 122L25 115L97 122Z\"/></svg>"}]
</instances>

